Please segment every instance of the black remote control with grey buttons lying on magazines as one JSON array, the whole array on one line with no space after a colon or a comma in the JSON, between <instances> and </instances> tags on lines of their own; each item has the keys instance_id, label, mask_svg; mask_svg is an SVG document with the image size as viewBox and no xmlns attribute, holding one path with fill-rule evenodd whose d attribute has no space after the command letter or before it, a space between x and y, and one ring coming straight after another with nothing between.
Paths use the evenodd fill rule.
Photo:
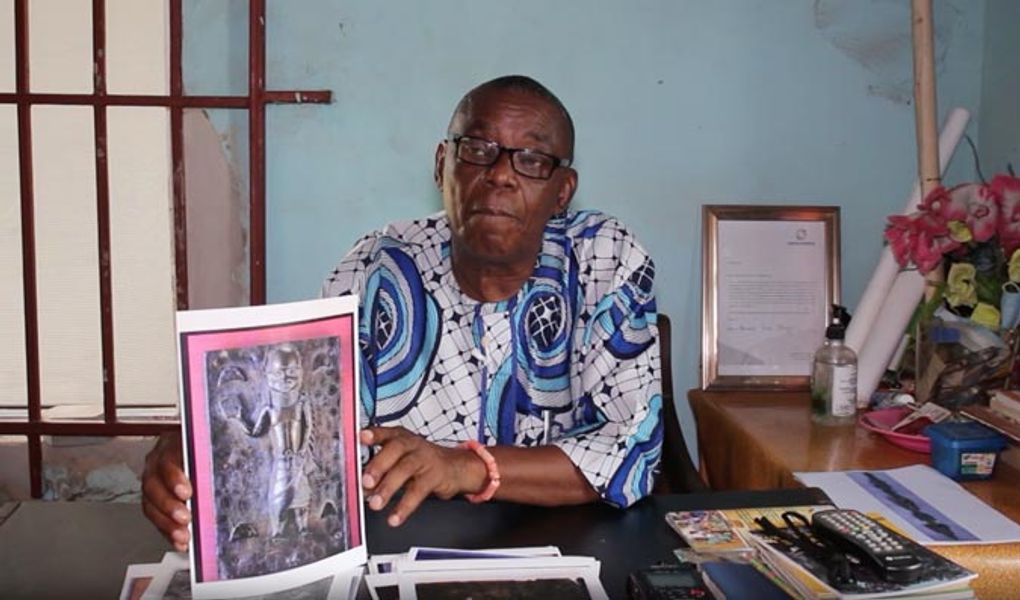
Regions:
<instances>
[{"instance_id":1,"label":"black remote control with grey buttons lying on magazines","mask_svg":"<svg viewBox=\"0 0 1020 600\"><path fill-rule=\"evenodd\" d=\"M811 517L822 538L878 568L882 579L907 584L921 577L916 543L857 510L822 510Z\"/></svg>"}]
</instances>

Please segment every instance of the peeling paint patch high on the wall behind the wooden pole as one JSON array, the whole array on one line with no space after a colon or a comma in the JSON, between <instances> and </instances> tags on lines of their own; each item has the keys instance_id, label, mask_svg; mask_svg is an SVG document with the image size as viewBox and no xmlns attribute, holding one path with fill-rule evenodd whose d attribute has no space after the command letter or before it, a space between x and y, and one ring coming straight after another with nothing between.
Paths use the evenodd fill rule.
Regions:
<instances>
[{"instance_id":1,"label":"peeling paint patch high on the wall behind the wooden pole","mask_svg":"<svg viewBox=\"0 0 1020 600\"><path fill-rule=\"evenodd\" d=\"M949 2L936 5L935 72L945 68L962 16ZM829 44L869 71L867 93L911 104L914 98L910 3L900 0L815 0L815 28Z\"/></svg>"}]
</instances>

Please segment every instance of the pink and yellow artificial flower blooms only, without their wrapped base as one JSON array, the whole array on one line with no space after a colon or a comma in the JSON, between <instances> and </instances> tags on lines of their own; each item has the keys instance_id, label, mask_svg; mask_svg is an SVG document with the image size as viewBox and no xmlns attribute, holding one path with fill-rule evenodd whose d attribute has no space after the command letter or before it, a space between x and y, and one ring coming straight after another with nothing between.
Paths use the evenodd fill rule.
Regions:
<instances>
[{"instance_id":1,"label":"pink and yellow artificial flower blooms only, without their wrapped base","mask_svg":"<svg viewBox=\"0 0 1020 600\"><path fill-rule=\"evenodd\" d=\"M1020 324L1020 179L936 188L917 212L888 217L885 239L901 266L946 266L951 312L1002 332Z\"/></svg>"}]
</instances>

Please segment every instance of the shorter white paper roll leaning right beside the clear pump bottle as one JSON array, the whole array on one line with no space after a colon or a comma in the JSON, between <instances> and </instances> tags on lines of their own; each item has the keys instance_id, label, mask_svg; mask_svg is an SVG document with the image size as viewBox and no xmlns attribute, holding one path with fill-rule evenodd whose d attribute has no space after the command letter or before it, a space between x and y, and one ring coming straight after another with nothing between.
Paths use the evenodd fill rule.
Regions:
<instances>
[{"instance_id":1,"label":"shorter white paper roll leaning right beside the clear pump bottle","mask_svg":"<svg viewBox=\"0 0 1020 600\"><path fill-rule=\"evenodd\" d=\"M874 327L857 353L857 406L865 408L889 358L903 337L917 303L924 295L924 276L917 270L904 270L896 276L882 310Z\"/></svg>"}]
</instances>

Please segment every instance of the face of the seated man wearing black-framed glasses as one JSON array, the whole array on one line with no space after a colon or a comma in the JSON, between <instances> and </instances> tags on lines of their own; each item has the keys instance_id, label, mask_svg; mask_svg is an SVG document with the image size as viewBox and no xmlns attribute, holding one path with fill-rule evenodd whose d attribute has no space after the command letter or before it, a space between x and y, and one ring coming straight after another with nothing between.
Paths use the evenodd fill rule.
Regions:
<instances>
[{"instance_id":1,"label":"face of the seated man wearing black-framed glasses","mask_svg":"<svg viewBox=\"0 0 1020 600\"><path fill-rule=\"evenodd\" d=\"M563 114L527 93L475 91L454 116L450 132L571 157ZM436 151L436 181L457 252L476 262L519 264L534 260L546 222L570 202L577 173L558 167L549 180L527 178L513 169L507 152L489 166L470 164L457 159L456 144L445 141Z\"/></svg>"}]
</instances>

